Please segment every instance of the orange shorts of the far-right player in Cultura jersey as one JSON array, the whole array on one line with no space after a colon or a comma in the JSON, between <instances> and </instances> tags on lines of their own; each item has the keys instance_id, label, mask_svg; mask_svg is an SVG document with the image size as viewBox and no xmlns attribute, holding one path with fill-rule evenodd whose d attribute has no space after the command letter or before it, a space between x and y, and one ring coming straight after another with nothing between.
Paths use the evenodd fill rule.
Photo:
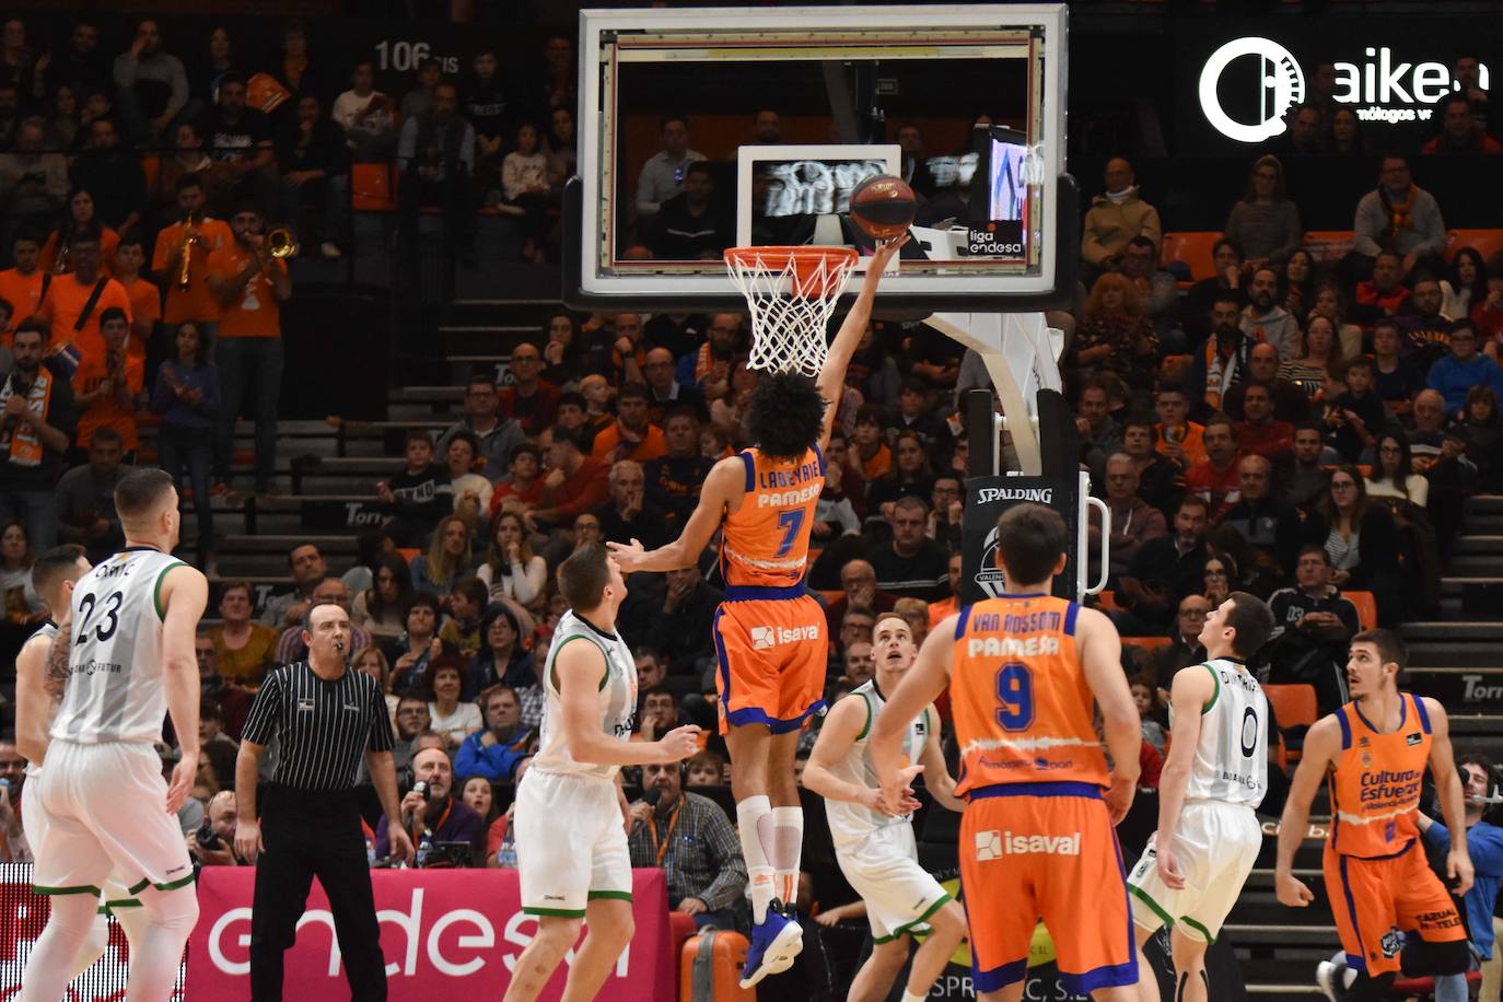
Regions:
<instances>
[{"instance_id":1,"label":"orange shorts of the far-right player in Cultura jersey","mask_svg":"<svg viewBox=\"0 0 1503 1002\"><path fill-rule=\"evenodd\" d=\"M1326 897L1336 916L1347 966L1375 978L1399 970L1404 933L1426 943L1467 937L1456 904L1416 838L1396 856L1344 856L1326 843Z\"/></svg>"}]
</instances>

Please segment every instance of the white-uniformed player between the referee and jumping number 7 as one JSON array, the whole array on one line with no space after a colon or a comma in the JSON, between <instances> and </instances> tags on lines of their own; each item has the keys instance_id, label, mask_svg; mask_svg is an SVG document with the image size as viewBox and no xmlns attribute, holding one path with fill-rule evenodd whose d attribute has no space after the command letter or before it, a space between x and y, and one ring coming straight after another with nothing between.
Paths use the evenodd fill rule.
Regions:
<instances>
[{"instance_id":1,"label":"white-uniformed player between the referee and jumping number 7","mask_svg":"<svg viewBox=\"0 0 1503 1002\"><path fill-rule=\"evenodd\" d=\"M541 747L517 787L517 873L522 910L538 933L522 951L505 1002L532 1002L564 954L589 933L570 964L562 1002L588 1002L631 942L631 856L624 765L681 762L699 750L699 727L661 741L630 741L637 669L616 632L627 598L621 569L600 544L576 550L558 571L570 610L549 647ZM582 643L576 643L582 641Z\"/></svg>"}]
</instances>

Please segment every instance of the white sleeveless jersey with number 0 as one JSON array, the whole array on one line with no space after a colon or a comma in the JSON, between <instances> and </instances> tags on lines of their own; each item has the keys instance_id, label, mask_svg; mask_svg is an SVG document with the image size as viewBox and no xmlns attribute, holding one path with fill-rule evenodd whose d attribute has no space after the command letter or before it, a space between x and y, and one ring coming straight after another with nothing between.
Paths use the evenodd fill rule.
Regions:
<instances>
[{"instance_id":1,"label":"white sleeveless jersey with number 0","mask_svg":"<svg viewBox=\"0 0 1503 1002\"><path fill-rule=\"evenodd\" d=\"M1238 661L1216 658L1181 669L1199 670L1211 673L1216 691L1201 711L1201 736L1184 802L1257 808L1269 790L1269 700L1258 679Z\"/></svg>"}]
</instances>

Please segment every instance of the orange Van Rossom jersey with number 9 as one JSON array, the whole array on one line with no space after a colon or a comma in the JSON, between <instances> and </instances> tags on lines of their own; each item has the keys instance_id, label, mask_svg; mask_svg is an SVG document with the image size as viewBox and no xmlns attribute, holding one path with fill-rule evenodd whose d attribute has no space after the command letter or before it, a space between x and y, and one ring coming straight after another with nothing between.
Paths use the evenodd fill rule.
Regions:
<instances>
[{"instance_id":1,"label":"orange Van Rossom jersey with number 9","mask_svg":"<svg viewBox=\"0 0 1503 1002\"><path fill-rule=\"evenodd\" d=\"M1004 595L960 610L950 675L957 795L1015 783L1106 786L1094 696L1075 641L1078 611L1051 595Z\"/></svg>"}]
</instances>

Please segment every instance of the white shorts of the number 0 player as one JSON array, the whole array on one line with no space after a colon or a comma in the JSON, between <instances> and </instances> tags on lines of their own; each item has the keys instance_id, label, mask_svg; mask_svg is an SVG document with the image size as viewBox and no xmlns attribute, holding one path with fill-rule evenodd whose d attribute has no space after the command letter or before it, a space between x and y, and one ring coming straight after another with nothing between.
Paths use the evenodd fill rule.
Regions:
<instances>
[{"instance_id":1,"label":"white shorts of the number 0 player","mask_svg":"<svg viewBox=\"0 0 1503 1002\"><path fill-rule=\"evenodd\" d=\"M1263 849L1263 826L1247 807L1186 804L1174 834L1174 858L1184 877L1175 891L1159 877L1157 832L1127 876L1133 922L1139 928L1180 924L1180 931L1216 942L1241 885Z\"/></svg>"}]
</instances>

